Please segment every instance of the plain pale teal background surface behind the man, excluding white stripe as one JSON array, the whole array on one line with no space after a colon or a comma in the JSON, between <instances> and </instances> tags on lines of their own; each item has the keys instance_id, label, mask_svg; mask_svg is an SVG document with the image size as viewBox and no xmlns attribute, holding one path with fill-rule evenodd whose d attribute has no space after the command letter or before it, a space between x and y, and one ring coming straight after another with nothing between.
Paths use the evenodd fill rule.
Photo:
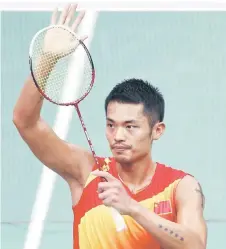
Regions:
<instances>
[{"instance_id":1,"label":"plain pale teal background surface behind the man, excluding white stripe","mask_svg":"<svg viewBox=\"0 0 226 249\"><path fill-rule=\"evenodd\" d=\"M33 35L49 12L1 13L2 249L22 249L35 200L41 163L12 123L29 74ZM104 99L124 78L151 81L166 100L166 132L154 144L154 159L196 176L206 195L208 249L226 248L226 13L100 12L91 54L96 83L80 108L98 155L109 155ZM57 106L42 115L53 125ZM76 112L68 138L87 147ZM40 249L72 248L70 193L57 179Z\"/></svg>"}]
</instances>

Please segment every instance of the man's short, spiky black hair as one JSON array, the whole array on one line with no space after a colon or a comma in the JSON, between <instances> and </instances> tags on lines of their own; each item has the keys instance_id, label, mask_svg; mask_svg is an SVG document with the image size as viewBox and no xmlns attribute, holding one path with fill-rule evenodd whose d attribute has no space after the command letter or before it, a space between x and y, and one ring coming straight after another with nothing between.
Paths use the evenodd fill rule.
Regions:
<instances>
[{"instance_id":1,"label":"man's short, spiky black hair","mask_svg":"<svg viewBox=\"0 0 226 249\"><path fill-rule=\"evenodd\" d=\"M110 102L143 104L144 113L148 115L150 126L162 122L165 101L157 87L142 79L127 79L117 84L105 100L105 113Z\"/></svg>"}]
</instances>

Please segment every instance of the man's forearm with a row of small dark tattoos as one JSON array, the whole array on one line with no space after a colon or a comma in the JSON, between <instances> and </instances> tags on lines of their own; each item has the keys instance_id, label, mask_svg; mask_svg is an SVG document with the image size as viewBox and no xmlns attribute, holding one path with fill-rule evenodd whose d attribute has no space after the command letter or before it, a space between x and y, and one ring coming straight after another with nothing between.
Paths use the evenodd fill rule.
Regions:
<instances>
[{"instance_id":1,"label":"man's forearm with a row of small dark tattoos","mask_svg":"<svg viewBox=\"0 0 226 249\"><path fill-rule=\"evenodd\" d=\"M139 203L131 209L130 216L164 249L205 249L199 237L185 226L166 220Z\"/></svg>"}]
</instances>

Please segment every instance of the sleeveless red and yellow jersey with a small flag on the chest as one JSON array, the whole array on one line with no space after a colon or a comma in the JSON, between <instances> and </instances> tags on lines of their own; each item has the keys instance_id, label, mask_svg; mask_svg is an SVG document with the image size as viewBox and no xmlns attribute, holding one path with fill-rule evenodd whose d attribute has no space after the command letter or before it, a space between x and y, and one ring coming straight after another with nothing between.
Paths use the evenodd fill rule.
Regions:
<instances>
[{"instance_id":1,"label":"sleeveless red and yellow jersey with a small flag on the chest","mask_svg":"<svg viewBox=\"0 0 226 249\"><path fill-rule=\"evenodd\" d=\"M119 179L113 158L99 158L99 161L102 170ZM145 208L176 222L175 189L185 175L187 173L183 171L157 163L152 181L146 188L133 194L124 187ZM111 210L98 198L99 182L99 177L90 175L80 201L73 207L73 249L160 249L157 240L130 216L123 215L127 229L116 231Z\"/></svg>"}]
</instances>

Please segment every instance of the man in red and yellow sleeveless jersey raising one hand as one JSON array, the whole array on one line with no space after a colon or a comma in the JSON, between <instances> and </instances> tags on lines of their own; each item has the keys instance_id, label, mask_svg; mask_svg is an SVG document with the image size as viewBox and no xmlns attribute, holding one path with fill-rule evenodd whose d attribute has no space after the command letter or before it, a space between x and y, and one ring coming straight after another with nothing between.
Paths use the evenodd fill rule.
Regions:
<instances>
[{"instance_id":1,"label":"man in red and yellow sleeveless jersey raising one hand","mask_svg":"<svg viewBox=\"0 0 226 249\"><path fill-rule=\"evenodd\" d=\"M69 26L76 5L52 24ZM78 28L84 13L70 26ZM201 187L189 174L152 160L150 148L165 130L164 99L147 82L117 84L105 101L106 137L113 156L99 157L62 141L40 117L43 98L29 77L13 121L34 155L68 183L74 212L74 249L205 249ZM101 181L102 177L107 179ZM127 228L117 232L110 209Z\"/></svg>"}]
</instances>

